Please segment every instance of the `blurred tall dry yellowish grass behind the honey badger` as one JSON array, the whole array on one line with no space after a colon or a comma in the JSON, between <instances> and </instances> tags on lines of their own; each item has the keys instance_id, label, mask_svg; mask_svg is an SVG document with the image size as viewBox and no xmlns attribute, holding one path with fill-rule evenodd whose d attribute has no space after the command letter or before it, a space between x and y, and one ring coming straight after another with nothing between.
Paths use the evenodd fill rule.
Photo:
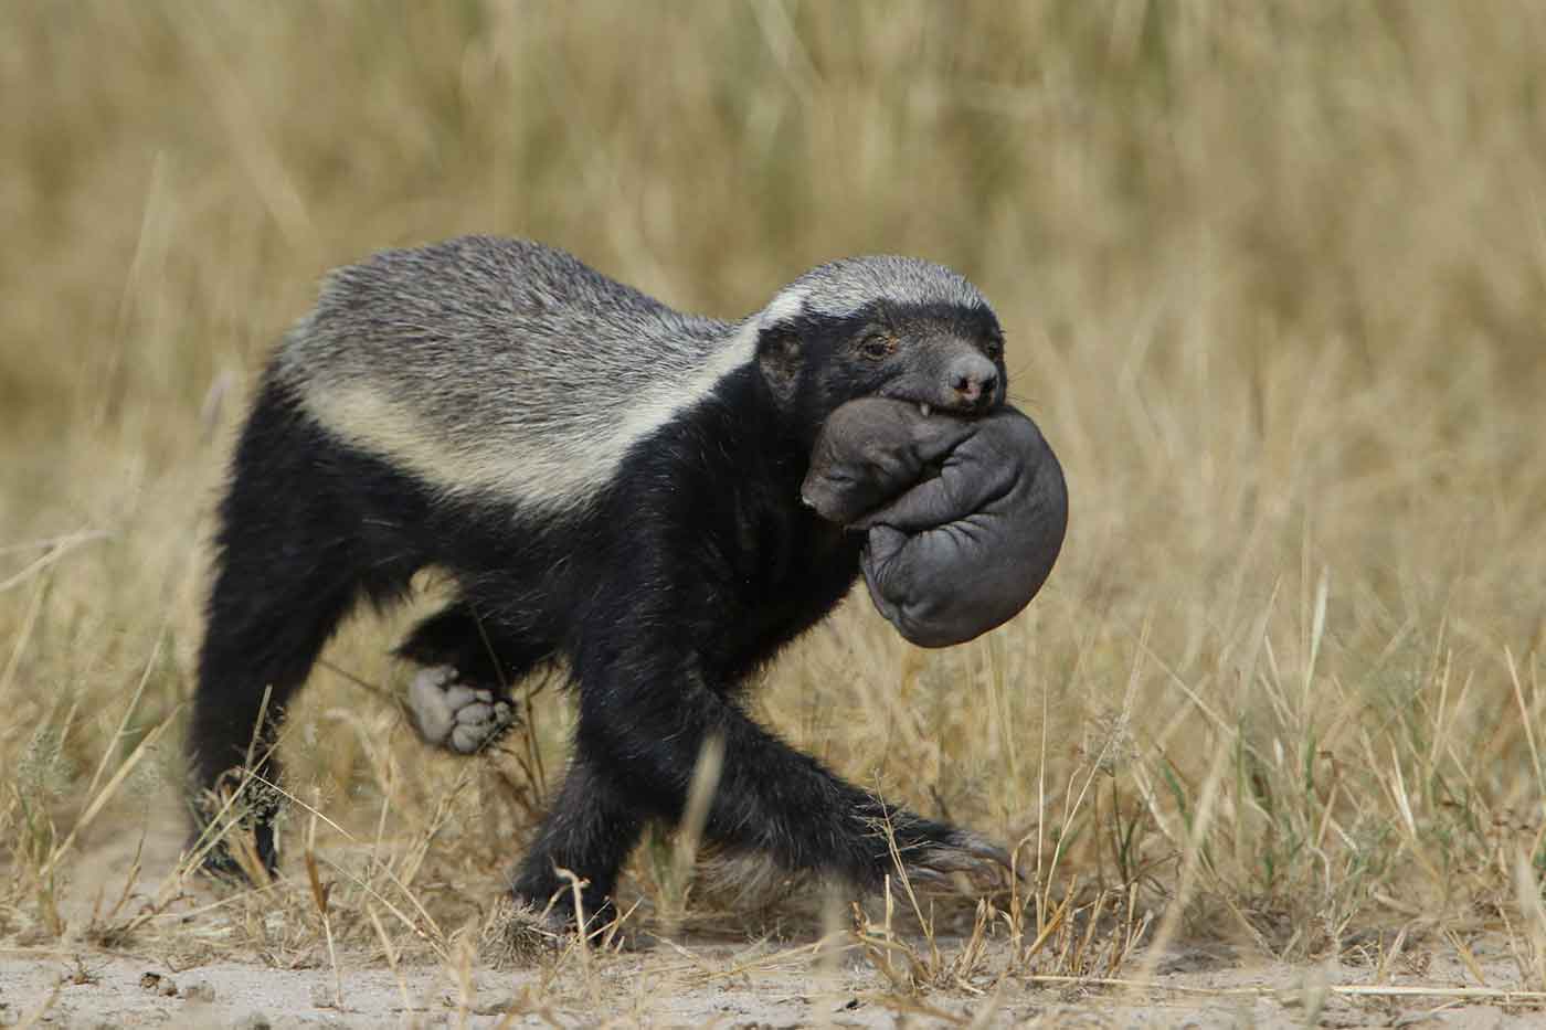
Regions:
<instances>
[{"instance_id":1,"label":"blurred tall dry yellowish grass behind the honey badger","mask_svg":"<svg viewBox=\"0 0 1546 1030\"><path fill-rule=\"evenodd\" d=\"M46 869L192 690L277 336L328 268L473 230L731 317L863 252L994 302L1059 568L949 653L856 595L770 676L795 742L1277 950L1538 914L1538 5L15 0L0 40L0 933L176 806L156 738ZM391 639L331 660L400 690ZM292 727L297 793L495 889L518 776L464 789L326 671Z\"/></svg>"}]
</instances>

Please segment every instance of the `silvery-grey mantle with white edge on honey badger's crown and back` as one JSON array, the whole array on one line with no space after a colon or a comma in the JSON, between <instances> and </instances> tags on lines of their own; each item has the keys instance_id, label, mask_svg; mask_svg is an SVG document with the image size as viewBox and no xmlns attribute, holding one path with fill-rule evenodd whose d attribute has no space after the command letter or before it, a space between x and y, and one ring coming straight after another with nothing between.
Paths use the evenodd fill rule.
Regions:
<instances>
[{"instance_id":1,"label":"silvery-grey mantle with white edge on honey badger's crown and back","mask_svg":"<svg viewBox=\"0 0 1546 1030\"><path fill-rule=\"evenodd\" d=\"M761 329L875 298L983 303L937 264L850 258L734 325L673 311L563 251L464 237L334 272L277 374L320 425L442 493L567 509L754 360Z\"/></svg>"}]
</instances>

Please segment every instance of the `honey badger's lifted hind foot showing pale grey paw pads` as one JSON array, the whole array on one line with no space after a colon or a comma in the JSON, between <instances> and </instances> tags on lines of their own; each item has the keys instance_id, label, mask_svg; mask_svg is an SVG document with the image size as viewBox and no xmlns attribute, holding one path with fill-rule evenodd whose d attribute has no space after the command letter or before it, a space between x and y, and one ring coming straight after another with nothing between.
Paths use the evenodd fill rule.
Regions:
<instances>
[{"instance_id":1,"label":"honey badger's lifted hind foot showing pale grey paw pads","mask_svg":"<svg viewBox=\"0 0 1546 1030\"><path fill-rule=\"evenodd\" d=\"M424 668L408 685L408 716L425 744L476 753L521 719L510 684L552 657L533 634L495 631L465 602L430 616L397 646Z\"/></svg>"}]
</instances>

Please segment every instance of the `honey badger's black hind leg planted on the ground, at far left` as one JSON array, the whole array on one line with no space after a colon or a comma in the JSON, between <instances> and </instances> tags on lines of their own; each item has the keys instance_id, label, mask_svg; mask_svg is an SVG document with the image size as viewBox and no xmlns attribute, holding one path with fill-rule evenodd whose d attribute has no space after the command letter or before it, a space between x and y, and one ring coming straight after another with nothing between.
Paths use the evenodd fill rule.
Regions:
<instances>
[{"instance_id":1,"label":"honey badger's black hind leg planted on the ground, at far left","mask_svg":"<svg viewBox=\"0 0 1546 1030\"><path fill-rule=\"evenodd\" d=\"M195 848L204 865L237 872L226 843L206 827L244 813L255 858L274 869L278 727L317 654L362 595L385 600L414 568L394 540L362 530L365 518L340 481L369 483L315 428L284 388L264 384L241 435L220 507L215 585L206 611L189 728ZM377 493L390 493L377 476ZM240 796L238 796L240 795Z\"/></svg>"}]
</instances>

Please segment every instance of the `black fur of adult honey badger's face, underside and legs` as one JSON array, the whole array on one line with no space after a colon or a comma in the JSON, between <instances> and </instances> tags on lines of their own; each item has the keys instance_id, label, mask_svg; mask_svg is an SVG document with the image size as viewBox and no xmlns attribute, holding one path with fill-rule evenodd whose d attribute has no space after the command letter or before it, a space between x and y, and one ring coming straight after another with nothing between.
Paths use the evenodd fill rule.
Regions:
<instances>
[{"instance_id":1,"label":"black fur of adult honey badger's face, underside and legs","mask_svg":"<svg viewBox=\"0 0 1546 1030\"><path fill-rule=\"evenodd\" d=\"M569 869L589 883L587 911L608 911L643 826L680 817L711 735L725 762L707 837L722 846L877 886L890 861L873 820L890 818L904 852L959 844L952 827L887 812L795 752L737 697L858 574L860 540L801 503L810 445L838 404L917 374L929 345L881 360L855 339L926 319L945 323L952 348L989 356L997 388L982 404L1002 401L991 312L813 319L787 329L795 339L764 340L758 362L638 442L595 503L563 518L436 495L340 444L271 374L221 506L190 741L198 786L218 787L254 739L254 767L272 781L266 745L339 620L438 566L459 599L413 631L405 657L489 685L564 659L578 693L569 776L515 875L518 897L546 903L564 886L557 869ZM264 688L269 719L255 736ZM272 809L258 806L254 824L272 865Z\"/></svg>"}]
</instances>

